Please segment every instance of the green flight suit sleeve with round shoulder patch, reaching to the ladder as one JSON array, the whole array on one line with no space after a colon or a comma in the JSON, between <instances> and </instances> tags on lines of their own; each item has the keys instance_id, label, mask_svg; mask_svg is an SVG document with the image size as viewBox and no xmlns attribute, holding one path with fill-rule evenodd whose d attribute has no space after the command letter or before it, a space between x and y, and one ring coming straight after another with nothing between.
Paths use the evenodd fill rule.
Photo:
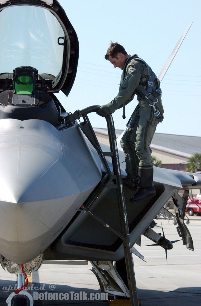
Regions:
<instances>
[{"instance_id":1,"label":"green flight suit sleeve with round shoulder patch, reaching to the ladder","mask_svg":"<svg viewBox=\"0 0 201 306\"><path fill-rule=\"evenodd\" d=\"M128 104L134 98L134 91L138 87L143 73L141 67L137 62L128 64L125 77L119 87L119 93L110 103L106 104L111 113L122 107L123 103Z\"/></svg>"}]
</instances>

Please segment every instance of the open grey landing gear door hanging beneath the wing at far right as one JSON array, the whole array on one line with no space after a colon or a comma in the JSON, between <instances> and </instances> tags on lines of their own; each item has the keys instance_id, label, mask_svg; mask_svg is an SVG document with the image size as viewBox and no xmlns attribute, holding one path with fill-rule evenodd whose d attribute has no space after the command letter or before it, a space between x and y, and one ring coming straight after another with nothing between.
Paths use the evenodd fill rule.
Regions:
<instances>
[{"instance_id":1,"label":"open grey landing gear door hanging beneath the wing at far right","mask_svg":"<svg viewBox=\"0 0 201 306\"><path fill-rule=\"evenodd\" d=\"M178 208L178 213L176 213L176 221L178 224L176 228L177 232L179 236L182 237L183 244L185 244L189 250L194 251L191 234L184 223L185 209L188 200L188 192L189 192L188 190L184 190L184 194L182 197L177 192L175 192L173 194L173 202Z\"/></svg>"}]
</instances>

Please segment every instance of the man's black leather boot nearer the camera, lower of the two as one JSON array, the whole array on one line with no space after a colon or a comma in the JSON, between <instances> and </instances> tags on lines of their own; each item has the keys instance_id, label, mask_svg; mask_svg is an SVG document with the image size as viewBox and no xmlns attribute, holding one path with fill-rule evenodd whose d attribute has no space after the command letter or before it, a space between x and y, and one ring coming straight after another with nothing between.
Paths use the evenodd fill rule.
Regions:
<instances>
[{"instance_id":1,"label":"man's black leather boot nearer the camera, lower of the two","mask_svg":"<svg viewBox=\"0 0 201 306\"><path fill-rule=\"evenodd\" d=\"M139 168L138 175L140 180L140 189L130 198L130 202L139 202L144 199L153 198L156 195L156 190L153 186L153 174L152 168Z\"/></svg>"}]
</instances>

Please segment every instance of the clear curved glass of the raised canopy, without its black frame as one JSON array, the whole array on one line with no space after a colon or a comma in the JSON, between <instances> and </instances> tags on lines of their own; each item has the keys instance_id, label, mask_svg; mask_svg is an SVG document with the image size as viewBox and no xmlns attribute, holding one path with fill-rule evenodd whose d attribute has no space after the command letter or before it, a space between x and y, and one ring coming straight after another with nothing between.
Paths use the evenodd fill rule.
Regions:
<instances>
[{"instance_id":1,"label":"clear curved glass of the raised canopy, without its black frame","mask_svg":"<svg viewBox=\"0 0 201 306\"><path fill-rule=\"evenodd\" d=\"M36 6L12 6L0 13L0 73L31 66L57 76L63 63L64 32L55 16Z\"/></svg>"}]
</instances>

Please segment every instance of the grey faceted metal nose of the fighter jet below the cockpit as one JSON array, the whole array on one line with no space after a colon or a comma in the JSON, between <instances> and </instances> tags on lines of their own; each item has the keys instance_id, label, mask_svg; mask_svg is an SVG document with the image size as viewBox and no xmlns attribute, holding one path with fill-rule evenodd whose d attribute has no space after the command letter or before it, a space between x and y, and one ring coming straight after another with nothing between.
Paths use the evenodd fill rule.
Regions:
<instances>
[{"instance_id":1,"label":"grey faceted metal nose of the fighter jet below the cockpit","mask_svg":"<svg viewBox=\"0 0 201 306\"><path fill-rule=\"evenodd\" d=\"M38 256L100 178L76 127L60 132L42 120L0 120L0 254L17 263Z\"/></svg>"}]
</instances>

